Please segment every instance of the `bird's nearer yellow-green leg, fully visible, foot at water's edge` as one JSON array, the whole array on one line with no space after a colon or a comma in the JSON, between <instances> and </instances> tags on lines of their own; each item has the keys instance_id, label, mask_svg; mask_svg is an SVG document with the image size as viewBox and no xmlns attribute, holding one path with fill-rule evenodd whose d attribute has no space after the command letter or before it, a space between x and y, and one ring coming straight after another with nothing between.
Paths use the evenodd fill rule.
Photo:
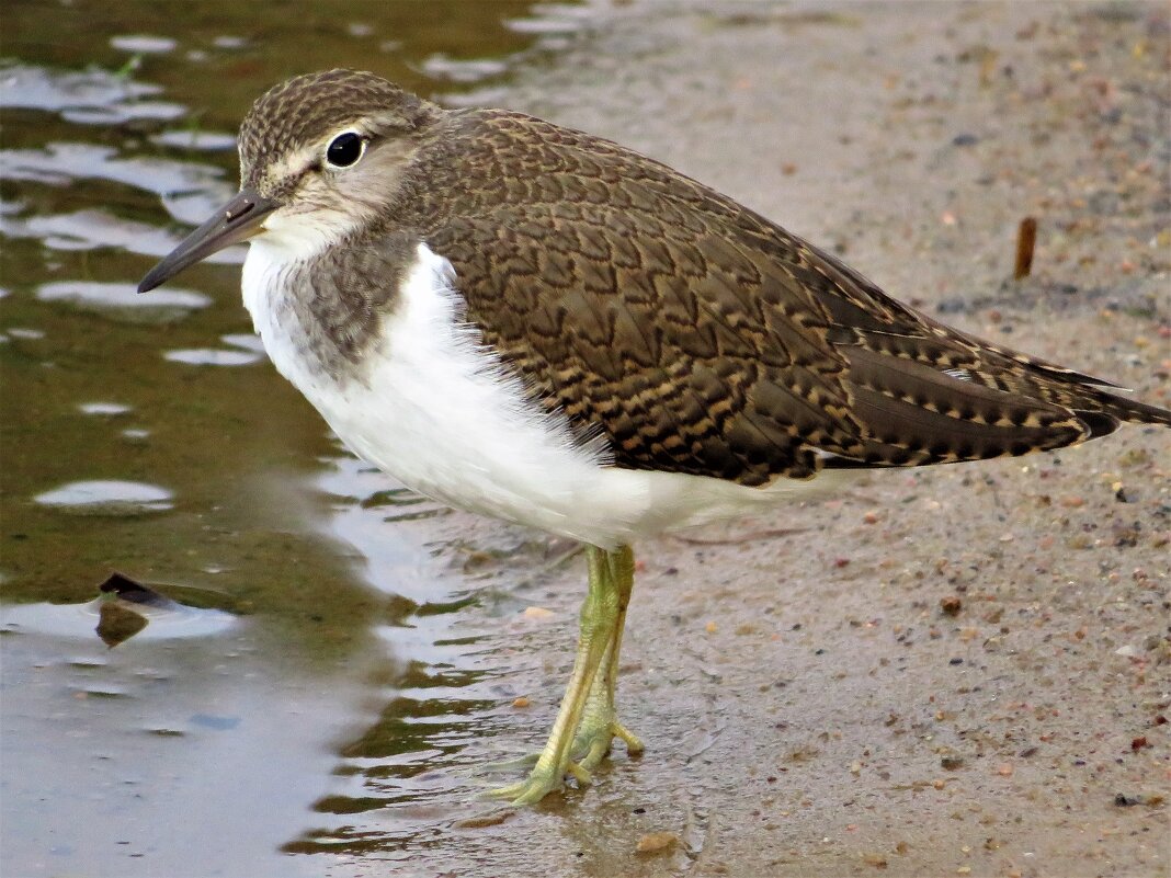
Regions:
<instances>
[{"instance_id":1,"label":"bird's nearer yellow-green leg, fully visible, foot at water's edge","mask_svg":"<svg viewBox=\"0 0 1171 878\"><path fill-rule=\"evenodd\" d=\"M570 762L574 733L582 720L582 712L594 686L598 666L609 651L614 625L618 616L618 588L607 553L593 546L587 549L589 562L589 591L581 611L581 635L574 671L561 699L557 719L549 740L536 759L528 778L520 783L492 790L488 795L511 800L513 804L533 804L564 784L568 771L581 783L589 782L589 773ZM629 591L629 590L628 590Z\"/></svg>"}]
</instances>

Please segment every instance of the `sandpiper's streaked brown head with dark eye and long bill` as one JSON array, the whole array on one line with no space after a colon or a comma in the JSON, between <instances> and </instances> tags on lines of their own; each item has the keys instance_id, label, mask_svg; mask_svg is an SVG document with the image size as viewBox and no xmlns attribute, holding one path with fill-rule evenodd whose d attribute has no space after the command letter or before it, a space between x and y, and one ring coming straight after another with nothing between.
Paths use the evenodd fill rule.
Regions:
<instances>
[{"instance_id":1,"label":"sandpiper's streaked brown head with dark eye and long bill","mask_svg":"<svg viewBox=\"0 0 1171 878\"><path fill-rule=\"evenodd\" d=\"M155 266L138 291L249 238L309 256L386 215L441 112L369 73L329 70L276 85L240 126L240 192Z\"/></svg>"}]
</instances>

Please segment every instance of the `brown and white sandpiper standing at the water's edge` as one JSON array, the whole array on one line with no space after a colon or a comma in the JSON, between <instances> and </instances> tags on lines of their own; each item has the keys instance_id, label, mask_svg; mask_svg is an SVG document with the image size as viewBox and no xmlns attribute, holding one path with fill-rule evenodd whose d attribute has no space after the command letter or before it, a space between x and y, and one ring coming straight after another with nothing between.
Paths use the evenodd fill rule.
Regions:
<instances>
[{"instance_id":1,"label":"brown and white sandpiper standing at the water's edge","mask_svg":"<svg viewBox=\"0 0 1171 878\"><path fill-rule=\"evenodd\" d=\"M617 143L445 109L371 73L253 104L241 185L139 293L240 241L276 370L358 457L452 507L575 540L573 671L528 774L589 783L615 740L632 546L858 471L1077 445L1171 411L939 323Z\"/></svg>"}]
</instances>

